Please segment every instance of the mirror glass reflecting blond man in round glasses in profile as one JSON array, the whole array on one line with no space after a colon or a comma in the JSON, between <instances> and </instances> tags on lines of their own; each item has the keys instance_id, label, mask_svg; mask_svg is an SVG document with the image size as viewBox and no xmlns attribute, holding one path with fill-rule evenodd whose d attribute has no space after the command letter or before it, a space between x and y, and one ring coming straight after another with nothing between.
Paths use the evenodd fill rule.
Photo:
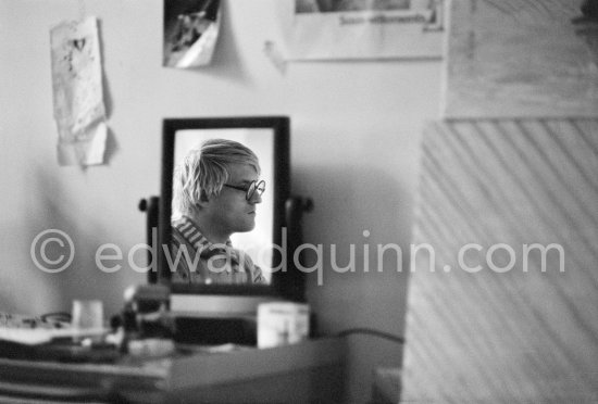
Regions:
<instances>
[{"instance_id":1,"label":"mirror glass reflecting blond man in round glasses in profile","mask_svg":"<svg viewBox=\"0 0 598 404\"><path fill-rule=\"evenodd\" d=\"M173 282L271 282L274 169L271 128L176 131Z\"/></svg>"}]
</instances>

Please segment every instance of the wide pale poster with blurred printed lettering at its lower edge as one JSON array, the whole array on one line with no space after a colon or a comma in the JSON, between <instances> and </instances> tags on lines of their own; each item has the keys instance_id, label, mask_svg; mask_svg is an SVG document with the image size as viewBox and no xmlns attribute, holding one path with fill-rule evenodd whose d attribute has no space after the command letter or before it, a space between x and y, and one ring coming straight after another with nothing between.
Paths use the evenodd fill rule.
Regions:
<instances>
[{"instance_id":1,"label":"wide pale poster with blurred printed lettering at its lower edge","mask_svg":"<svg viewBox=\"0 0 598 404\"><path fill-rule=\"evenodd\" d=\"M289 60L441 58L445 0L295 0Z\"/></svg>"}]
</instances>

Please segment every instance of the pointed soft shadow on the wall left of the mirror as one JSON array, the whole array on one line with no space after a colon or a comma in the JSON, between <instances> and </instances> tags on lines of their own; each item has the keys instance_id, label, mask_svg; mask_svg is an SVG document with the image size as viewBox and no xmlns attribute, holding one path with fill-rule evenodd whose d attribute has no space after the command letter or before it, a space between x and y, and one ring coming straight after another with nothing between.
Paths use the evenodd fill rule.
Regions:
<instances>
[{"instance_id":1,"label":"pointed soft shadow on the wall left of the mirror","mask_svg":"<svg viewBox=\"0 0 598 404\"><path fill-rule=\"evenodd\" d=\"M84 212L82 201L89 197L74 198L42 168L38 168L36 178L34 200L38 205L34 210L38 215L26 227L29 240L37 241L35 258L45 269L34 265L32 257L29 281L23 285L26 293L37 296L29 303L29 312L70 311L73 299L100 299L104 302L104 314L114 314L122 305L123 290L132 283L125 275L130 272L100 270L96 253L107 242L121 247L124 242L114 239L114 228L109 227L105 212ZM139 282L145 279L138 274L135 277Z\"/></svg>"}]
</instances>

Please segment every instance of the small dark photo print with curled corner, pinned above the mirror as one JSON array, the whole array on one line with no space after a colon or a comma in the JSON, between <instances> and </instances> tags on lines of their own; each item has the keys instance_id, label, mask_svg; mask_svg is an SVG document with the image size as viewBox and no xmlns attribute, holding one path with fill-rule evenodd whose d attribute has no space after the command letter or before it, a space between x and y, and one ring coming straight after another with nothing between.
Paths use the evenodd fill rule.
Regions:
<instances>
[{"instance_id":1,"label":"small dark photo print with curled corner, pinned above the mirror","mask_svg":"<svg viewBox=\"0 0 598 404\"><path fill-rule=\"evenodd\" d=\"M164 0L166 67L209 65L220 30L220 0Z\"/></svg>"}]
</instances>

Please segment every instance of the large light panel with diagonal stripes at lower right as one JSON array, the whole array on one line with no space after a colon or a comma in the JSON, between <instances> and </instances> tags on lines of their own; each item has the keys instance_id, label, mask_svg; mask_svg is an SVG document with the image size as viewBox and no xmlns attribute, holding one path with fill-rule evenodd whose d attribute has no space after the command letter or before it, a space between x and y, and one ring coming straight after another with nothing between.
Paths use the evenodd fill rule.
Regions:
<instances>
[{"instance_id":1,"label":"large light panel with diagonal stripes at lower right","mask_svg":"<svg viewBox=\"0 0 598 404\"><path fill-rule=\"evenodd\" d=\"M597 200L596 119L427 128L403 402L598 401Z\"/></svg>"}]
</instances>

